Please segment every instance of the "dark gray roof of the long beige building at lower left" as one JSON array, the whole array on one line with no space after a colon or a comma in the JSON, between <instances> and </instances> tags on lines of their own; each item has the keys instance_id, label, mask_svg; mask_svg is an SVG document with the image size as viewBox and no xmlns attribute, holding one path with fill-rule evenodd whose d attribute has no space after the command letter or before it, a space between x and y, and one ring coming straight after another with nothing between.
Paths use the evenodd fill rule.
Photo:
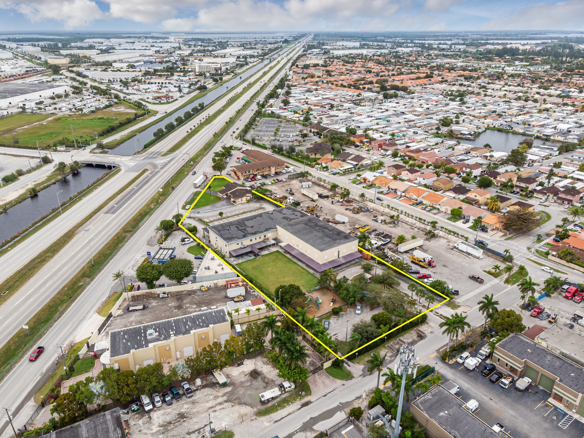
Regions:
<instances>
[{"instance_id":1,"label":"dark gray roof of the long beige building at lower left","mask_svg":"<svg viewBox=\"0 0 584 438\"><path fill-rule=\"evenodd\" d=\"M227 311L222 307L113 330L110 332L110 356L117 357L129 354L130 351L144 349L151 343L169 340L171 337L184 336L193 330L204 329L210 325L229 322L229 320ZM154 336L148 338L148 330L150 329L154 329Z\"/></svg>"}]
</instances>

